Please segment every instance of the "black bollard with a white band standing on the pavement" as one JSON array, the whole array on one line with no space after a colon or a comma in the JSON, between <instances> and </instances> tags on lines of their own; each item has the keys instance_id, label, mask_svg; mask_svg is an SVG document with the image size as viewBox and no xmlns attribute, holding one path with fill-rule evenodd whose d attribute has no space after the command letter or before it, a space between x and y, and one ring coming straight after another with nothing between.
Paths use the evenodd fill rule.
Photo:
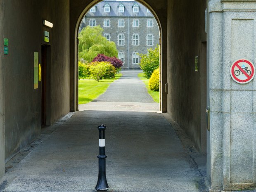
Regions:
<instances>
[{"instance_id":1,"label":"black bollard with a white band standing on the pavement","mask_svg":"<svg viewBox=\"0 0 256 192\"><path fill-rule=\"evenodd\" d=\"M98 126L99 133L100 133L100 154L97 156L99 159L99 176L98 176L98 182L95 187L95 190L97 191L105 191L109 189L109 185L107 184L107 178L106 178L106 158L105 155L105 129L107 127L104 125Z\"/></svg>"}]
</instances>

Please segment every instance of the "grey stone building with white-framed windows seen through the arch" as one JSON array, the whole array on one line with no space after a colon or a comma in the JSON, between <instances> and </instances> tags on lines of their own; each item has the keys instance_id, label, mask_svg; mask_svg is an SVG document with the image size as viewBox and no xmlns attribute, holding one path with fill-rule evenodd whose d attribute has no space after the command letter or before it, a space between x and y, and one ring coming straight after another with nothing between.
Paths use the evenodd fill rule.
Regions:
<instances>
[{"instance_id":1,"label":"grey stone building with white-framed windows seen through the arch","mask_svg":"<svg viewBox=\"0 0 256 192\"><path fill-rule=\"evenodd\" d=\"M102 1L93 6L83 18L79 31L85 26L100 25L104 37L114 41L123 61L122 69L139 69L140 57L147 49L159 44L159 28L154 15L136 1Z\"/></svg>"}]
</instances>

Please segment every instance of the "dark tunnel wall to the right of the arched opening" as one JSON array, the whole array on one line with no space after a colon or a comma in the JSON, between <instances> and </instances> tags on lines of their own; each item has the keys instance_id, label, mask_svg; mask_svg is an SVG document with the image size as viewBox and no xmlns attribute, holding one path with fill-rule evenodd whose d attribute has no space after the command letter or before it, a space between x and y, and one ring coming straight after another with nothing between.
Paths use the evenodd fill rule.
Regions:
<instances>
[{"instance_id":1,"label":"dark tunnel wall to the right of the arched opening","mask_svg":"<svg viewBox=\"0 0 256 192\"><path fill-rule=\"evenodd\" d=\"M167 111L201 152L206 152L206 127L201 123L206 109L205 9L203 0L168 1Z\"/></svg>"}]
</instances>

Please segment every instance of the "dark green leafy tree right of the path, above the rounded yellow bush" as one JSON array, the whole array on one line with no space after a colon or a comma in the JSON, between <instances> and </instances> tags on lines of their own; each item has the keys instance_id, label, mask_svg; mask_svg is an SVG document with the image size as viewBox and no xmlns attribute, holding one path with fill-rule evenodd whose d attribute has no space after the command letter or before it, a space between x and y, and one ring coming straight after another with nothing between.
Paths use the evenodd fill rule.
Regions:
<instances>
[{"instance_id":1,"label":"dark green leafy tree right of the path, above the rounded yellow bush","mask_svg":"<svg viewBox=\"0 0 256 192\"><path fill-rule=\"evenodd\" d=\"M159 67L159 45L155 49L147 50L147 54L140 54L140 68L144 71L145 77L150 78L153 71Z\"/></svg>"}]
</instances>

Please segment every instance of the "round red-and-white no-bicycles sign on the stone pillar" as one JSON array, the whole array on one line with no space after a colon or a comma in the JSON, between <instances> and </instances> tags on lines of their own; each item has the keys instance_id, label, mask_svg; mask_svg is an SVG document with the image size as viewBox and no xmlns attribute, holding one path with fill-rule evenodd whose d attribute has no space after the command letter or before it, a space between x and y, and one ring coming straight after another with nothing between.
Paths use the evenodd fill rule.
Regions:
<instances>
[{"instance_id":1,"label":"round red-and-white no-bicycles sign on the stone pillar","mask_svg":"<svg viewBox=\"0 0 256 192\"><path fill-rule=\"evenodd\" d=\"M248 59L238 59L231 65L230 74L237 83L249 83L255 76L254 64Z\"/></svg>"}]
</instances>

